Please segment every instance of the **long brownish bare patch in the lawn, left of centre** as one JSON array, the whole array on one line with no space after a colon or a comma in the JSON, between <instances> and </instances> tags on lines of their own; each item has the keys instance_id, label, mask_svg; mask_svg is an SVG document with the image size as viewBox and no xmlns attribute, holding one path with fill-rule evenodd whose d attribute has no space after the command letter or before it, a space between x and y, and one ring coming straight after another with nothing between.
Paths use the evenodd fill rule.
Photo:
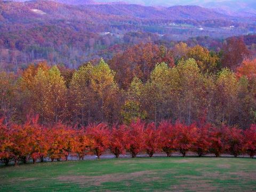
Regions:
<instances>
[{"instance_id":1,"label":"long brownish bare patch in the lawn, left of centre","mask_svg":"<svg viewBox=\"0 0 256 192\"><path fill-rule=\"evenodd\" d=\"M141 179L142 181L150 182L159 179L158 177L154 177L155 174L157 173L152 171L138 171L133 173L105 174L100 176L66 175L58 177L57 179L62 182L76 182L81 185L100 186L104 182L119 182L131 179Z\"/></svg>"}]
</instances>

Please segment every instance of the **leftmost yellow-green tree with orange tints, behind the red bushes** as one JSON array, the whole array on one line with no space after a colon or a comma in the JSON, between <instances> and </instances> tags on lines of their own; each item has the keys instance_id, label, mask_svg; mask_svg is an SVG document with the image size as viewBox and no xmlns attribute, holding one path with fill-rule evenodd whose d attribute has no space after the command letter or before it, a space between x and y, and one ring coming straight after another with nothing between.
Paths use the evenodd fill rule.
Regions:
<instances>
[{"instance_id":1,"label":"leftmost yellow-green tree with orange tints, behind the red bushes","mask_svg":"<svg viewBox=\"0 0 256 192\"><path fill-rule=\"evenodd\" d=\"M35 113L41 114L44 121L65 118L67 87L57 66L47 71L39 68L31 92Z\"/></svg>"}]
</instances>

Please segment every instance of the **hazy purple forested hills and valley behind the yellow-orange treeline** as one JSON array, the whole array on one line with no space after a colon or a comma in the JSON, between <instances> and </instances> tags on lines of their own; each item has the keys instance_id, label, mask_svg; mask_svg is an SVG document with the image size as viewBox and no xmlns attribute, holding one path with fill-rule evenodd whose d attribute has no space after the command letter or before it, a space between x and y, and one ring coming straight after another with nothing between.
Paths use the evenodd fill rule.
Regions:
<instances>
[{"instance_id":1,"label":"hazy purple forested hills and valley behind the yellow-orange treeline","mask_svg":"<svg viewBox=\"0 0 256 192\"><path fill-rule=\"evenodd\" d=\"M199 6L59 2L0 1L1 68L17 71L42 60L77 68L92 59L111 59L138 43L201 44L197 36L204 38L201 45L216 51L227 37L255 32L254 17Z\"/></svg>"}]
</instances>

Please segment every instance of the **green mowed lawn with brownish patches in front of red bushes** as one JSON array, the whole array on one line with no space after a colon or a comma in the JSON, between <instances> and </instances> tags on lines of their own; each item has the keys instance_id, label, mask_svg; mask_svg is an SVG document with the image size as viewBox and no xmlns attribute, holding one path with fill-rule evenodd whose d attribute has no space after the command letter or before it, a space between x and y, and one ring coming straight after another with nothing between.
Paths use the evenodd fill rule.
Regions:
<instances>
[{"instance_id":1,"label":"green mowed lawn with brownish patches in front of red bushes","mask_svg":"<svg viewBox=\"0 0 256 192\"><path fill-rule=\"evenodd\" d=\"M2 166L0 191L256 191L256 159L123 158Z\"/></svg>"}]
</instances>

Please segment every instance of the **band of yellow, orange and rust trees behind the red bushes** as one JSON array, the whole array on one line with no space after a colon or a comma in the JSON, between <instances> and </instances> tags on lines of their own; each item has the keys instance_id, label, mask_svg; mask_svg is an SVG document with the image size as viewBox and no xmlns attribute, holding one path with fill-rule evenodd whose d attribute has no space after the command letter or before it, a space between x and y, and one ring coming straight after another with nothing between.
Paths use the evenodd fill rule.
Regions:
<instances>
[{"instance_id":1,"label":"band of yellow, orange and rust trees behind the red bushes","mask_svg":"<svg viewBox=\"0 0 256 192\"><path fill-rule=\"evenodd\" d=\"M0 116L5 123L88 125L127 123L141 118L186 124L201 117L216 126L246 129L256 119L256 61L239 39L221 55L205 47L175 45L173 50L139 44L73 70L41 62L17 74L1 72Z\"/></svg>"}]
</instances>

